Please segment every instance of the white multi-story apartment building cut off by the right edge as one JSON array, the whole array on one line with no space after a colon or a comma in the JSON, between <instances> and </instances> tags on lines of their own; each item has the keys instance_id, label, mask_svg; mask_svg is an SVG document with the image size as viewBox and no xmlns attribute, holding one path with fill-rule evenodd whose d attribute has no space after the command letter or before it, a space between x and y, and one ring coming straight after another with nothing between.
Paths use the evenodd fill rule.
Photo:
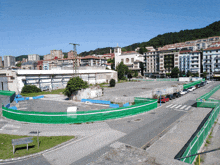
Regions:
<instances>
[{"instance_id":1,"label":"white multi-story apartment building cut off by the right edge","mask_svg":"<svg viewBox=\"0 0 220 165\"><path fill-rule=\"evenodd\" d=\"M203 72L220 73L220 47L203 50Z\"/></svg>"}]
</instances>

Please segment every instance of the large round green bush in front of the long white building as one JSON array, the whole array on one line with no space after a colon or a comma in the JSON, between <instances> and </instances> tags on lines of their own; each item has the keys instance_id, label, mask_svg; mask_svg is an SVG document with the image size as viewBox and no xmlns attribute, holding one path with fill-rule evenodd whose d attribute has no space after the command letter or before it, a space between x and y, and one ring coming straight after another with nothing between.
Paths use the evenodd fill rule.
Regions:
<instances>
[{"instance_id":1,"label":"large round green bush in front of the long white building","mask_svg":"<svg viewBox=\"0 0 220 165\"><path fill-rule=\"evenodd\" d=\"M65 96L70 97L73 92L81 90L81 89L85 89L85 88L88 88L88 84L86 81L83 81L79 77L73 77L68 81L63 94Z\"/></svg>"}]
</instances>

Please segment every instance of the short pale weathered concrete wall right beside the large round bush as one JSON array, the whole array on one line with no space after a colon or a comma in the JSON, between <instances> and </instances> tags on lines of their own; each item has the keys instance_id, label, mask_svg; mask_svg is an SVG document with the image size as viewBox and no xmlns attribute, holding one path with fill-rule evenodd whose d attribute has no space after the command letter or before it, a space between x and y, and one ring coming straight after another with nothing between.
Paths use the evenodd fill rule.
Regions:
<instances>
[{"instance_id":1,"label":"short pale weathered concrete wall right beside the large round bush","mask_svg":"<svg viewBox=\"0 0 220 165\"><path fill-rule=\"evenodd\" d=\"M100 87L92 87L74 92L70 99L81 101L82 99L92 99L100 96L102 96L102 89Z\"/></svg>"}]
</instances>

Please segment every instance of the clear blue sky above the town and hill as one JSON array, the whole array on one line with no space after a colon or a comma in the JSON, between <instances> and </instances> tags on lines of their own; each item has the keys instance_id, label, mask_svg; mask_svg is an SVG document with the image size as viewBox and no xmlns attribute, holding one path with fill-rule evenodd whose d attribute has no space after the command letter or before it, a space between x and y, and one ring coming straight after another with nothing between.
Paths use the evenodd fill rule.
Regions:
<instances>
[{"instance_id":1,"label":"clear blue sky above the town and hill","mask_svg":"<svg viewBox=\"0 0 220 165\"><path fill-rule=\"evenodd\" d=\"M219 21L219 0L0 0L0 56L123 47Z\"/></svg>"}]
</instances>

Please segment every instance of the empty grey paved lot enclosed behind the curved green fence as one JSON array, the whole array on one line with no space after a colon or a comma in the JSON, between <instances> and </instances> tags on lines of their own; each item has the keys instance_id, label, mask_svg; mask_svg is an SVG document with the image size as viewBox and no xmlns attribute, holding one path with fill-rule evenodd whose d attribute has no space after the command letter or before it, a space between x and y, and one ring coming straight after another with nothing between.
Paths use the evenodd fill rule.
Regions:
<instances>
[{"instance_id":1,"label":"empty grey paved lot enclosed behind the curved green fence","mask_svg":"<svg viewBox=\"0 0 220 165\"><path fill-rule=\"evenodd\" d=\"M125 82L118 83L113 88L104 88L104 96L94 99L110 100L113 98L134 98L144 96L152 89L168 88L184 84L183 82L157 82L157 81L144 81L144 82ZM117 103L121 103L120 100ZM89 111L107 109L108 105L86 104L82 102L75 102L68 100L63 95L45 95L43 99L20 101L19 103L13 102L11 106L16 106L22 111L38 111L38 112L66 112L68 107L77 106L77 111Z\"/></svg>"}]
</instances>

